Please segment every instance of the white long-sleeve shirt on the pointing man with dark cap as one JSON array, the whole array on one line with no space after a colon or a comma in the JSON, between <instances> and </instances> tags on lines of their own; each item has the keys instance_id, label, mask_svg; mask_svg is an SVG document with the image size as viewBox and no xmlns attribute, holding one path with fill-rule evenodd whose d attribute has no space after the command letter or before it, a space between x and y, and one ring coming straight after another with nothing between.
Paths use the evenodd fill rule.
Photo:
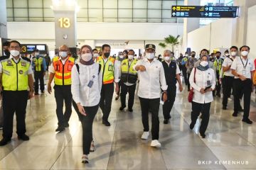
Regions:
<instances>
[{"instance_id":1,"label":"white long-sleeve shirt on the pointing man with dark cap","mask_svg":"<svg viewBox=\"0 0 256 170\"><path fill-rule=\"evenodd\" d=\"M145 72L137 72L139 77L138 96L141 98L160 98L161 89L166 90L168 87L164 76L163 64L159 60L154 59L152 62L149 62L149 60L144 58L134 65L134 69L137 65L144 65L146 67Z\"/></svg>"}]
</instances>

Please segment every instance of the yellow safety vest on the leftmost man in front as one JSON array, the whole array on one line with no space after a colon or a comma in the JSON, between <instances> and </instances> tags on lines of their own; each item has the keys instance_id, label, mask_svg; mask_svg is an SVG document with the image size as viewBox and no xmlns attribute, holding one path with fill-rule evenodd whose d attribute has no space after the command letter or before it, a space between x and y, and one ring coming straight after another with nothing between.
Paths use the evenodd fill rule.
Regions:
<instances>
[{"instance_id":1,"label":"yellow safety vest on the leftmost man in front","mask_svg":"<svg viewBox=\"0 0 256 170\"><path fill-rule=\"evenodd\" d=\"M2 86L5 91L28 90L28 69L31 62L20 58L18 63L13 59L2 60L3 66Z\"/></svg>"}]
</instances>

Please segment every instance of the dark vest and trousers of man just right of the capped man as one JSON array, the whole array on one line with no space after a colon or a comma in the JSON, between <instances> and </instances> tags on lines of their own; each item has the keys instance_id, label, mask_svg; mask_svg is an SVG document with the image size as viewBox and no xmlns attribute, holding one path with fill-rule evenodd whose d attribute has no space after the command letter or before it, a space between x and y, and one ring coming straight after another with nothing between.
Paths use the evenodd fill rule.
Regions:
<instances>
[{"instance_id":1,"label":"dark vest and trousers of man just right of the capped man","mask_svg":"<svg viewBox=\"0 0 256 170\"><path fill-rule=\"evenodd\" d=\"M164 67L164 75L166 78L166 84L168 85L167 88L167 101L164 102L163 105L163 115L164 120L169 120L171 118L170 112L171 108L174 106L174 101L176 98L176 74L180 74L180 69L177 69L178 66L175 60L171 60L169 64L167 62L162 62Z\"/></svg>"}]
</instances>

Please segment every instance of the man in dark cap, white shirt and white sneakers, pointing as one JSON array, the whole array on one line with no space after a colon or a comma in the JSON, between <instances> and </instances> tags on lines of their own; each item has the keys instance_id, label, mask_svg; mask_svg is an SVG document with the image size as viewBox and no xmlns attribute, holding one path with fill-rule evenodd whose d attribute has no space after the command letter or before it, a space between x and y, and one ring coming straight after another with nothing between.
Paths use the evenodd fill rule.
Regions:
<instances>
[{"instance_id":1,"label":"man in dark cap, white shirt and white sneakers, pointing","mask_svg":"<svg viewBox=\"0 0 256 170\"><path fill-rule=\"evenodd\" d=\"M146 45L146 56L134 65L139 76L139 101L142 108L142 124L144 132L143 140L149 137L149 109L151 110L152 141L151 147L161 147L159 142L159 105L160 87L164 91L163 101L167 100L167 85L164 75L164 67L158 60L154 59L156 46Z\"/></svg>"}]
</instances>

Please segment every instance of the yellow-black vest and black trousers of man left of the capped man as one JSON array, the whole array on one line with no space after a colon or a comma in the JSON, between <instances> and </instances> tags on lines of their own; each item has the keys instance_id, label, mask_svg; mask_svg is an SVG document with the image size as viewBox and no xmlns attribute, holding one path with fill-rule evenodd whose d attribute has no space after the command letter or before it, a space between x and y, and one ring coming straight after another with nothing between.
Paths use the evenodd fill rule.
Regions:
<instances>
[{"instance_id":1,"label":"yellow-black vest and black trousers of man left of the capped man","mask_svg":"<svg viewBox=\"0 0 256 170\"><path fill-rule=\"evenodd\" d=\"M128 110L132 112L134 105L134 94L136 89L137 72L133 69L137 60L131 62L126 59L121 62L121 108L125 108L126 95L129 93Z\"/></svg>"}]
</instances>

